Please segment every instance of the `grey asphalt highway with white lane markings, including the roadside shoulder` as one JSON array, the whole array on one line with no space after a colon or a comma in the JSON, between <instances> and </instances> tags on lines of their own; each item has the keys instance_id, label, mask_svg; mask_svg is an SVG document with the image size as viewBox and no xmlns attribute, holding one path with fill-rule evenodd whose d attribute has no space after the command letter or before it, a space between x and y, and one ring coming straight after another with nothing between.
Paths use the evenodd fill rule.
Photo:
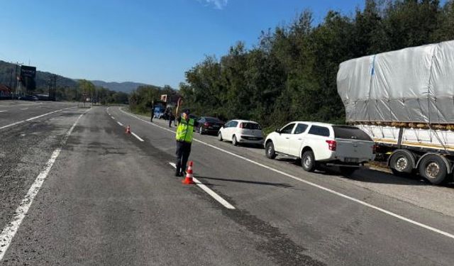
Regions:
<instances>
[{"instance_id":1,"label":"grey asphalt highway with white lane markings, including the roadside shoulder","mask_svg":"<svg viewBox=\"0 0 454 266\"><path fill-rule=\"evenodd\" d=\"M195 134L209 194L174 176L173 130L0 101L0 265L454 265L453 184L308 173Z\"/></svg>"}]
</instances>

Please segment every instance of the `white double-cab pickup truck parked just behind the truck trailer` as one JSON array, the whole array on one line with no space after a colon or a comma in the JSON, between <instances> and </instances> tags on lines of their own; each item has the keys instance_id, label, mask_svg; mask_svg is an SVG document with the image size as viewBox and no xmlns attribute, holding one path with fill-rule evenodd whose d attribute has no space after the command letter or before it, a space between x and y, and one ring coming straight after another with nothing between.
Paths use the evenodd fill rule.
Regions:
<instances>
[{"instance_id":1,"label":"white double-cab pickup truck parked just behind the truck trailer","mask_svg":"<svg viewBox=\"0 0 454 266\"><path fill-rule=\"evenodd\" d=\"M343 174L351 174L375 158L375 143L364 131L328 123L288 123L267 135L264 145L268 158L274 159L277 155L297 157L308 172L323 164L339 166Z\"/></svg>"}]
</instances>

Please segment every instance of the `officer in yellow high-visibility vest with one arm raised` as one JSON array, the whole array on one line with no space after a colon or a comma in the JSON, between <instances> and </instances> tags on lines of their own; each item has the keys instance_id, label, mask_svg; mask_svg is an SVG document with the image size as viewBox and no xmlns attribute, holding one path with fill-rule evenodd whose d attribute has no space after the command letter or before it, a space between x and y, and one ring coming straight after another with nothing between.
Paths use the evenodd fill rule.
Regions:
<instances>
[{"instance_id":1,"label":"officer in yellow high-visibility vest with one arm raised","mask_svg":"<svg viewBox=\"0 0 454 266\"><path fill-rule=\"evenodd\" d=\"M199 123L193 118L189 118L189 109L184 109L181 116L179 116L179 109L182 107L183 101L181 98L178 99L177 116L178 127L175 138L177 139L177 170L175 176L182 177L184 171L186 171L187 160L191 153L192 145L192 133L194 133L194 126L198 126Z\"/></svg>"}]
</instances>

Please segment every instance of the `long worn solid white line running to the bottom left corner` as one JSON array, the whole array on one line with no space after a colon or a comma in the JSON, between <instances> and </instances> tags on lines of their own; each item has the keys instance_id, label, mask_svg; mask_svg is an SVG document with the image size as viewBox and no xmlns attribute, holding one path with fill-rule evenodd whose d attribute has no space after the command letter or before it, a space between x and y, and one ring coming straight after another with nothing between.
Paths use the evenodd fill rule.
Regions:
<instances>
[{"instance_id":1,"label":"long worn solid white line running to the bottom left corner","mask_svg":"<svg viewBox=\"0 0 454 266\"><path fill-rule=\"evenodd\" d=\"M88 110L87 110L88 111ZM52 153L52 156L50 156L50 159L45 165L45 169L38 174L38 177L36 177L35 182L31 185L30 189L28 189L28 192L26 196L23 198L21 201L21 204L17 207L16 211L14 212L12 221L9 223L8 226L6 226L3 231L0 233L0 261L3 259L6 250L8 250L9 245L11 244L11 241L14 238L14 235L16 235L19 226L21 226L21 223L23 221L23 218L25 218L28 209L30 209L31 204L33 203L33 200L35 199L35 196L38 194L40 191L40 187L43 185L44 180L46 177L48 177L48 174L50 170L52 169L52 166L55 163L55 160L57 160L58 155L60 155L60 152L62 150L62 146L65 145L66 141L68 138L70 138L70 135L72 131L74 130L75 126L79 122L80 118L87 113L85 111L82 113L76 121L72 124L71 128L67 133L65 134L65 137L60 143L60 148L57 148L54 150Z\"/></svg>"}]
</instances>

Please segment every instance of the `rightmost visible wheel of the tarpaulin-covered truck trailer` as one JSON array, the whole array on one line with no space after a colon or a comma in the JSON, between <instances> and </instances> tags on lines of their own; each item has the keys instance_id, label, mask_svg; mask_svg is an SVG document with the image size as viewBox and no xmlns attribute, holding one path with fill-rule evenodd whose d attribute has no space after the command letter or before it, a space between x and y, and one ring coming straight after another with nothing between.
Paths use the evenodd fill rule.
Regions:
<instances>
[{"instance_id":1,"label":"rightmost visible wheel of the tarpaulin-covered truck trailer","mask_svg":"<svg viewBox=\"0 0 454 266\"><path fill-rule=\"evenodd\" d=\"M440 155L430 154L419 162L419 174L432 184L448 182L448 169Z\"/></svg>"}]
</instances>

